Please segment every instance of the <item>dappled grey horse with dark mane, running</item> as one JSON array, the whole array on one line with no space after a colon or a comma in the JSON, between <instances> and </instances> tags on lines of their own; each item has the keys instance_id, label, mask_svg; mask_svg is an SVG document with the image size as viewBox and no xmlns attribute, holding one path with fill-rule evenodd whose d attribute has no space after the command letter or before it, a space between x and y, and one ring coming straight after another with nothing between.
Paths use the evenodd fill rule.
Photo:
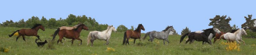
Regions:
<instances>
[{"instance_id":1,"label":"dappled grey horse with dark mane, running","mask_svg":"<svg viewBox=\"0 0 256 55\"><path fill-rule=\"evenodd\" d=\"M145 38L149 35L149 40L148 41L153 41L154 40L154 38L156 38L156 39L159 39L159 40L165 40L165 41L167 41L168 43L170 43L169 42L169 40L168 40L168 36L169 36L169 33L170 32L174 32L174 28L172 27L172 26L167 26L163 31L161 31L161 32L157 32L157 31L151 31L151 32L147 32L146 34L145 34L145 36L144 36L144 38L143 38L143 40L145 40ZM164 44L165 44L165 42L164 42Z\"/></svg>"}]
</instances>

